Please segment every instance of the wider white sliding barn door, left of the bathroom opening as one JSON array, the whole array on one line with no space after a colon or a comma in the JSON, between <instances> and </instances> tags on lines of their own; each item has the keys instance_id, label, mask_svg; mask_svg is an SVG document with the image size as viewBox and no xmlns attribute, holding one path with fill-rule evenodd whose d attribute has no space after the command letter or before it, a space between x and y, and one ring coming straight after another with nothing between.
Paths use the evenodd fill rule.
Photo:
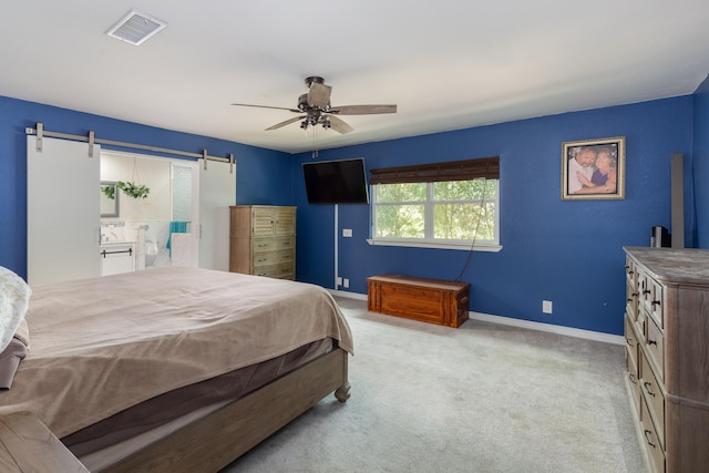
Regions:
<instances>
[{"instance_id":1,"label":"wider white sliding barn door, left of the bathroom opening","mask_svg":"<svg viewBox=\"0 0 709 473\"><path fill-rule=\"evenodd\" d=\"M101 275L100 146L27 137L28 282Z\"/></svg>"}]
</instances>

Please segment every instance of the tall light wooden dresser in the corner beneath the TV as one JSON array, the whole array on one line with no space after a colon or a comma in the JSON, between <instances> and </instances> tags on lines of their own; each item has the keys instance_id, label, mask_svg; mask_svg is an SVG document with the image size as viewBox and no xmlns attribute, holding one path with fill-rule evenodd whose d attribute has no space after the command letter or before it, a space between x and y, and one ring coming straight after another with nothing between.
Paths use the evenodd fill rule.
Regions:
<instances>
[{"instance_id":1,"label":"tall light wooden dresser in the corner beneath the TV","mask_svg":"<svg viewBox=\"0 0 709 473\"><path fill-rule=\"evenodd\" d=\"M296 207L229 207L229 271L296 278Z\"/></svg>"}]
</instances>

